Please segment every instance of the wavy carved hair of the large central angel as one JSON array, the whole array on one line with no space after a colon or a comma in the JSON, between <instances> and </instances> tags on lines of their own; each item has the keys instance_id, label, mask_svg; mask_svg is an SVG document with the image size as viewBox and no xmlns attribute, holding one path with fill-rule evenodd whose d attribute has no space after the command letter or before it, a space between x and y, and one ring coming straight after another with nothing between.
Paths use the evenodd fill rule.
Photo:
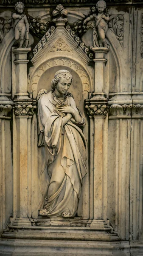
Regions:
<instances>
[{"instance_id":1,"label":"wavy carved hair of the large central angel","mask_svg":"<svg viewBox=\"0 0 143 256\"><path fill-rule=\"evenodd\" d=\"M51 88L52 91L55 90L57 84L59 84L59 82L61 82L62 84L67 83L70 85L73 81L73 76L70 74L69 71L67 70L58 70L55 73L54 79L52 79L51 81Z\"/></svg>"}]
</instances>

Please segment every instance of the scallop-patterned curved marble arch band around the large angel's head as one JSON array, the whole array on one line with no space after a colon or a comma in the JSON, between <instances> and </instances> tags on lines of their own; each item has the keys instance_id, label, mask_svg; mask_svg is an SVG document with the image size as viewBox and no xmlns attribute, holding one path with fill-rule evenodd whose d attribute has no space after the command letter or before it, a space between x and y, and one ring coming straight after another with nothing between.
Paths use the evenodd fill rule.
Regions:
<instances>
[{"instance_id":1,"label":"scallop-patterned curved marble arch band around the large angel's head","mask_svg":"<svg viewBox=\"0 0 143 256\"><path fill-rule=\"evenodd\" d=\"M51 57L48 60L43 61L31 73L28 91L30 93L33 93L34 98L36 98L38 93L37 86L38 86L40 77L46 70L55 66L64 66L65 69L66 67L70 67L73 71L75 71L79 75L82 82L83 91L87 91L88 93L91 91L91 84L92 84L91 77L89 75L89 72L87 72L86 67L84 67L83 64L79 63L76 59L70 58L69 56L67 57L66 55L63 54L62 56L57 57L56 55L54 57Z\"/></svg>"}]
</instances>

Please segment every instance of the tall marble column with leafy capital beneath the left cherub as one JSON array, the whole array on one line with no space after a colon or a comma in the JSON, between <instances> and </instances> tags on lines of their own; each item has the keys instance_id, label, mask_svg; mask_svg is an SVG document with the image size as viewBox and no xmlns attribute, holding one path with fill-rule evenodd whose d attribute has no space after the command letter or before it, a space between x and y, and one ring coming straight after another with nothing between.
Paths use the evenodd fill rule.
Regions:
<instances>
[{"instance_id":1,"label":"tall marble column with leafy capital beneath the left cherub","mask_svg":"<svg viewBox=\"0 0 143 256\"><path fill-rule=\"evenodd\" d=\"M36 102L27 93L27 53L13 49L15 86L13 115L14 218L12 225L31 226L31 118Z\"/></svg>"}]
</instances>

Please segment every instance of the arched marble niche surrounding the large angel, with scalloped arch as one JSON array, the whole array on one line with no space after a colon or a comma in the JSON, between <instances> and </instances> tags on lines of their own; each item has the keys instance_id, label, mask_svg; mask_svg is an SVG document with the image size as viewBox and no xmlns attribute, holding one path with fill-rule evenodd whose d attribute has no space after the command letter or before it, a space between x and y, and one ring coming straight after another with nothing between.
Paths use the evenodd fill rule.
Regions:
<instances>
[{"instance_id":1,"label":"arched marble niche surrounding the large angel, with scalloped arch","mask_svg":"<svg viewBox=\"0 0 143 256\"><path fill-rule=\"evenodd\" d=\"M89 162L89 120L84 113L84 99L89 98L89 93L92 88L92 80L88 68L85 64L79 63L76 59L70 58L65 52L57 56L57 53L48 54L48 59L43 56L43 61L40 60L38 63L34 64L34 67L30 70L29 82L28 82L28 92L32 94L32 97L36 99L36 96L41 89L51 90L50 82L54 77L57 70L64 69L70 71L73 76L73 82L69 88L69 92L73 94L75 102L81 113L86 119L87 125L85 126L83 132L87 138L87 169ZM55 56L54 56L55 55ZM31 188L33 191L31 193L31 216L32 218L38 217L38 204L42 197L42 184L45 187L44 177L43 183L40 183L40 172L45 159L45 148L44 146L38 147L38 125L37 125L37 113L34 114L31 124L31 156L32 156L32 170L31 170ZM39 186L40 184L40 186ZM88 175L84 177L82 195L79 202L78 217L84 219L89 219L89 178Z\"/></svg>"}]
</instances>

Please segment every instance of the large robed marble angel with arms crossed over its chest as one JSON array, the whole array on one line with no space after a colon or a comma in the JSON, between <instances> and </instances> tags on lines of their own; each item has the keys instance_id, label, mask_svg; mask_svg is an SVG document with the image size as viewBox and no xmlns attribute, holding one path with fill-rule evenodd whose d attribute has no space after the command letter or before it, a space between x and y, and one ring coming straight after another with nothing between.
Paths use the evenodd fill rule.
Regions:
<instances>
[{"instance_id":1,"label":"large robed marble angel with arms crossed over its chest","mask_svg":"<svg viewBox=\"0 0 143 256\"><path fill-rule=\"evenodd\" d=\"M73 77L67 70L56 72L52 90L38 93L39 128L44 137L47 183L39 215L74 217L81 195L82 179L87 174L86 139L81 128L84 117L76 107L70 88Z\"/></svg>"}]
</instances>

